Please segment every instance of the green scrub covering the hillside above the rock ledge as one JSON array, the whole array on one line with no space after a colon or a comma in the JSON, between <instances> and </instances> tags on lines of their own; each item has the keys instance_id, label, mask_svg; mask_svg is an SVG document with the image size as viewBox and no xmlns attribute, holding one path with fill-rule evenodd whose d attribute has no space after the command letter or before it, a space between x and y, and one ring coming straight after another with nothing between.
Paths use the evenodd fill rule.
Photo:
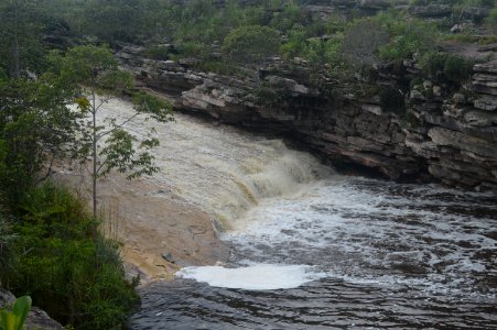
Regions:
<instances>
[{"instance_id":1,"label":"green scrub covering the hillside above the rock ledge","mask_svg":"<svg viewBox=\"0 0 497 330\"><path fill-rule=\"evenodd\" d=\"M224 72L230 65L222 52L225 42L229 42L228 34L247 26L264 26L271 29L271 34L280 35L282 44L278 53L284 58L321 61L332 69L339 66L343 51L349 50L352 44L364 46L361 42L371 36L377 44L368 56L375 55L381 61L437 51L445 40L496 41L495 35L488 33L496 29L495 0L411 1L417 6L449 6L451 13L437 20L412 16L403 8L396 9L396 1L390 1L393 6L388 11L372 16L356 9L321 16L302 10L303 4L313 4L313 1L303 0L226 0L223 6L219 4L223 1L206 0L43 0L36 6L22 1L2 4L0 28L6 32L0 38L4 45L13 44L15 7L12 3L15 2L19 2L18 19L29 22L17 28L19 62L31 72L43 66L40 55L46 51L46 41L53 36L67 43L71 43L68 40L84 42L80 37L86 41L97 37L110 45L145 43L151 57L194 57L201 67ZM475 8L486 8L488 16L475 16ZM456 34L450 32L454 24L465 22L476 25L466 24ZM364 35L361 31L369 34ZM12 47L3 47L1 52L0 67L4 73L11 73L17 63L12 59Z\"/></svg>"}]
</instances>

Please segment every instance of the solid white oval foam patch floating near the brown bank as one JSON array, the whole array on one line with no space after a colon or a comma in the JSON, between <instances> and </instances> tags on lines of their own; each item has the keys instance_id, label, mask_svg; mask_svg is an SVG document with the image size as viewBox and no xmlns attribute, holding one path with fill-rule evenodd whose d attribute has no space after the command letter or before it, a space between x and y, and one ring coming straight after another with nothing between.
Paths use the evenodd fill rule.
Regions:
<instances>
[{"instance_id":1,"label":"solid white oval foam patch floating near the brown bank","mask_svg":"<svg viewBox=\"0 0 497 330\"><path fill-rule=\"evenodd\" d=\"M177 272L176 276L204 282L215 287L274 290L295 288L323 278L324 274L316 273L313 267L305 265L256 264L239 268L186 267Z\"/></svg>"}]
</instances>

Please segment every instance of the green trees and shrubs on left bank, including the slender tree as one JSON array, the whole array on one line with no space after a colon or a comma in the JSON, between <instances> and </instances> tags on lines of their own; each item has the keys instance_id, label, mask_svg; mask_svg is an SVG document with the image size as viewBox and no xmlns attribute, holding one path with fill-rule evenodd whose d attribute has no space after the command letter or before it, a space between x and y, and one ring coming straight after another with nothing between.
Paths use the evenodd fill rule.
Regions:
<instances>
[{"instance_id":1,"label":"green trees and shrubs on left bank, including the slender tree","mask_svg":"<svg viewBox=\"0 0 497 330\"><path fill-rule=\"evenodd\" d=\"M122 122L112 121L102 131L96 112L122 92L132 96L137 113L159 121L171 119L171 108L136 92L130 75L118 70L105 45L51 52L40 34L48 29L45 18L20 14L15 7L25 3L9 4L2 14L11 10L15 26L8 24L10 33L2 34L13 46L1 57L0 76L0 284L17 296L30 295L33 305L64 326L120 329L139 302L139 278L125 278L119 242L98 230L105 219L52 180L54 164L98 163L95 183L112 169L130 178L150 174L155 167L147 151L156 141L137 140ZM23 38L23 29L30 29L30 37ZM34 53L24 48L33 38L39 38Z\"/></svg>"}]
</instances>

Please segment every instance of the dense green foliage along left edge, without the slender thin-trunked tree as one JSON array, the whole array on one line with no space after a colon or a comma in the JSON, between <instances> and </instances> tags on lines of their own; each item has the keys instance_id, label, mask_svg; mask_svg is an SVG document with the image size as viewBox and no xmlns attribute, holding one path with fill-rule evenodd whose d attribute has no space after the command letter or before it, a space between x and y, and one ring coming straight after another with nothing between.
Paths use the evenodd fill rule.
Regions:
<instances>
[{"instance_id":1,"label":"dense green foliage along left edge, without the slender thin-trunked tree","mask_svg":"<svg viewBox=\"0 0 497 330\"><path fill-rule=\"evenodd\" d=\"M45 80L46 79L46 80ZM64 324L116 329L138 301L119 245L93 237L86 202L46 182L75 144L74 91L36 80L0 82L0 283L29 294Z\"/></svg>"}]
</instances>

